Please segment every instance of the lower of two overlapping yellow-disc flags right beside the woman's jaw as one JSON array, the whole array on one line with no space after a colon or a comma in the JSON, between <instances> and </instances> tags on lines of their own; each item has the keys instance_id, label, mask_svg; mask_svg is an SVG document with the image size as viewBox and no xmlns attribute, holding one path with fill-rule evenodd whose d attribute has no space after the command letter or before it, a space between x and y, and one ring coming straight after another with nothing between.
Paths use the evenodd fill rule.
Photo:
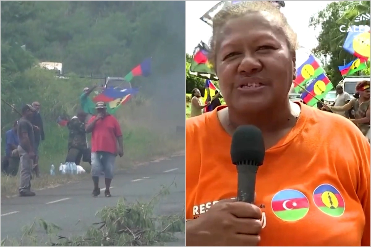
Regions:
<instances>
[{"instance_id":1,"label":"lower of two overlapping yellow-disc flags right beside the woman's jaw","mask_svg":"<svg viewBox=\"0 0 371 247\"><path fill-rule=\"evenodd\" d=\"M322 100L333 88L334 86L328 77L325 74L321 74L309 83L301 94L301 99L308 106L314 106L318 100Z\"/></svg>"}]
</instances>

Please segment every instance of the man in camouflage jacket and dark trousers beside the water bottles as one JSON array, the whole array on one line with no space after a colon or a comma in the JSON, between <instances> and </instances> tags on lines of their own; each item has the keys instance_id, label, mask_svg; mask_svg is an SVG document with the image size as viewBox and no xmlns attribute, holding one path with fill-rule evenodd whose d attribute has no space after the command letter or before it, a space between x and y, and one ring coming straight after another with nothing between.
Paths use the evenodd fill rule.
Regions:
<instances>
[{"instance_id":1,"label":"man in camouflage jacket and dark trousers beside the water bottles","mask_svg":"<svg viewBox=\"0 0 371 247\"><path fill-rule=\"evenodd\" d=\"M73 116L67 124L69 136L66 162L75 162L77 166L80 165L81 158L83 158L83 161L91 164L90 151L88 151L88 143L86 141L86 115L84 111L78 111L76 116Z\"/></svg>"}]
</instances>

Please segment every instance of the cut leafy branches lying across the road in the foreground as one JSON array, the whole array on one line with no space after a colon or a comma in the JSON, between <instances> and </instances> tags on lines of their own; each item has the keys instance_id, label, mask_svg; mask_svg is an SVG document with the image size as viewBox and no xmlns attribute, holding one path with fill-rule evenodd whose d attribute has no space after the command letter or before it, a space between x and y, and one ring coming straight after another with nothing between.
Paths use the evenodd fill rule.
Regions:
<instances>
[{"instance_id":1,"label":"cut leafy branches lying across the road in the foreground","mask_svg":"<svg viewBox=\"0 0 371 247\"><path fill-rule=\"evenodd\" d=\"M156 204L169 194L170 186L162 186L146 203L128 203L121 198L116 206L102 208L96 213L101 221L82 236L60 236L62 228L37 219L31 226L23 227L22 238L3 238L1 246L164 246L165 242L177 240L176 233L185 234L184 208L173 215L154 213ZM40 236L41 232L46 233L46 239Z\"/></svg>"}]
</instances>

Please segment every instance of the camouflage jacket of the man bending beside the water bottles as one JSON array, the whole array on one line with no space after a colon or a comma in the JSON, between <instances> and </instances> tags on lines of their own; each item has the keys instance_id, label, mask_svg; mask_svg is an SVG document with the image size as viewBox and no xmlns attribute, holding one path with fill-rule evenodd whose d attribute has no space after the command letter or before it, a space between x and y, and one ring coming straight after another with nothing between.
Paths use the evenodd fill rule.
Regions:
<instances>
[{"instance_id":1,"label":"camouflage jacket of the man bending beside the water bottles","mask_svg":"<svg viewBox=\"0 0 371 247\"><path fill-rule=\"evenodd\" d=\"M67 124L67 127L69 129L68 149L77 148L83 150L88 148L88 144L86 143L85 123L74 116Z\"/></svg>"}]
</instances>

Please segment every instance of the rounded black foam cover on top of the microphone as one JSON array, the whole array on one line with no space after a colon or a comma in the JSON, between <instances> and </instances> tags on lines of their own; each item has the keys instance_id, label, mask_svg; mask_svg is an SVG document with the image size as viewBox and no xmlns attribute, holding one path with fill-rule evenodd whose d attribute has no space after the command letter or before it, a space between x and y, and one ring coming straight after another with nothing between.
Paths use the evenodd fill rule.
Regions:
<instances>
[{"instance_id":1,"label":"rounded black foam cover on top of the microphone","mask_svg":"<svg viewBox=\"0 0 371 247\"><path fill-rule=\"evenodd\" d=\"M265 146L262 131L253 125L237 127L232 136L231 158L233 164L249 161L257 166L263 164Z\"/></svg>"}]
</instances>

